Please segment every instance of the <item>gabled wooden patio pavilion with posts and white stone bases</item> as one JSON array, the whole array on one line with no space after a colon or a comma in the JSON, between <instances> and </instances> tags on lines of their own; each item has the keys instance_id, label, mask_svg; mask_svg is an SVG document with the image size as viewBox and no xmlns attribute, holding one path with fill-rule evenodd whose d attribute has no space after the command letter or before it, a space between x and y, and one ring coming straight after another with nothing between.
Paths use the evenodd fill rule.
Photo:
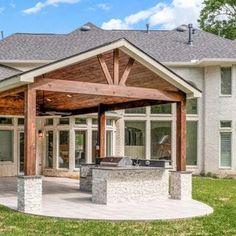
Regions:
<instances>
[{"instance_id":1,"label":"gabled wooden patio pavilion with posts and white stone bases","mask_svg":"<svg viewBox=\"0 0 236 236\"><path fill-rule=\"evenodd\" d=\"M166 201L191 199L191 173L186 172L186 98L200 97L201 92L127 40L101 45L0 83L0 114L24 114L25 118L25 166L24 176L18 178L18 210L38 213L41 209L36 117L98 113L97 156L103 159L107 111L166 103L176 103L177 114L176 171L171 172L172 199Z\"/></svg>"}]
</instances>

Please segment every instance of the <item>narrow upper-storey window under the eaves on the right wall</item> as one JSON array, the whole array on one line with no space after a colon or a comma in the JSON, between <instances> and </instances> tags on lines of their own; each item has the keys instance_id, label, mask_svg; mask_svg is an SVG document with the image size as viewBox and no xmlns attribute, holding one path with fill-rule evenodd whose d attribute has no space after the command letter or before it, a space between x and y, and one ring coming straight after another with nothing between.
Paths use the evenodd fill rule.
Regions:
<instances>
[{"instance_id":1,"label":"narrow upper-storey window under the eaves on the right wall","mask_svg":"<svg viewBox=\"0 0 236 236\"><path fill-rule=\"evenodd\" d=\"M232 94L232 78L231 78L231 67L221 68L221 94L231 95Z\"/></svg>"}]
</instances>

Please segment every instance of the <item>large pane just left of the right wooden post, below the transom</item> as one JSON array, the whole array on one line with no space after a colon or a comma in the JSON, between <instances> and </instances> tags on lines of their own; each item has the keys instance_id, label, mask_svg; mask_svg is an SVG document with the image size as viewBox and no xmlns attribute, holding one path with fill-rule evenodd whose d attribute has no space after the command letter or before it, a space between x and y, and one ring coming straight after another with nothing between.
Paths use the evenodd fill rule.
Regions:
<instances>
[{"instance_id":1,"label":"large pane just left of the right wooden post, below the transom","mask_svg":"<svg viewBox=\"0 0 236 236\"><path fill-rule=\"evenodd\" d=\"M151 122L151 159L171 160L171 122Z\"/></svg>"}]
</instances>

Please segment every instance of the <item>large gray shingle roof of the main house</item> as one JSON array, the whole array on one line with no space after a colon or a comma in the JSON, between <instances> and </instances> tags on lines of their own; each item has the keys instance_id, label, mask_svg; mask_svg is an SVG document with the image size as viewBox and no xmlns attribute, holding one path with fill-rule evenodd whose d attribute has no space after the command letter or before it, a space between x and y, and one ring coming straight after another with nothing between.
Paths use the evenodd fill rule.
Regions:
<instances>
[{"instance_id":1,"label":"large gray shingle roof of the main house","mask_svg":"<svg viewBox=\"0 0 236 236\"><path fill-rule=\"evenodd\" d=\"M188 31L102 30L91 23L69 34L13 34L0 41L0 60L57 60L126 38L161 62L189 62L203 58L236 58L236 44L197 30L193 46L187 44Z\"/></svg>"}]
</instances>

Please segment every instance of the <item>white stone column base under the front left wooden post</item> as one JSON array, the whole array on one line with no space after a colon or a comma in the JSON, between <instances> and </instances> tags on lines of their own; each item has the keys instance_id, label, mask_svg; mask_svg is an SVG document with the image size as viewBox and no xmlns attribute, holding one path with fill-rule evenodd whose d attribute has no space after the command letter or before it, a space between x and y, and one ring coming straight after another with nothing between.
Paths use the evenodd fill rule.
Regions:
<instances>
[{"instance_id":1,"label":"white stone column base under the front left wooden post","mask_svg":"<svg viewBox=\"0 0 236 236\"><path fill-rule=\"evenodd\" d=\"M39 213L42 208L42 177L18 176L18 211Z\"/></svg>"}]
</instances>

